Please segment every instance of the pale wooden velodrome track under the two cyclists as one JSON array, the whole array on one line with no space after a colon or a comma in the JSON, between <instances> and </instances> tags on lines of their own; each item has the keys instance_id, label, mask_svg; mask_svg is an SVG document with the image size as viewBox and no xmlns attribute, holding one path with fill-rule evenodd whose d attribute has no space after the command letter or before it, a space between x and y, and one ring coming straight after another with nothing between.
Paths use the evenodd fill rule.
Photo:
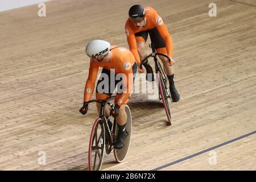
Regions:
<instances>
[{"instance_id":1,"label":"pale wooden velodrome track under the two cyclists","mask_svg":"<svg viewBox=\"0 0 256 182\"><path fill-rule=\"evenodd\" d=\"M102 169L255 170L256 3L214 1L210 17L210 2L64 0L46 2L41 18L37 5L0 12L0 169L88 169L97 113L93 105L79 113L85 45L100 38L128 47L127 12L139 3L158 10L171 33L181 99L170 104L167 126L160 102L134 93L127 158L117 164L113 153L105 156ZM46 152L42 166L39 151Z\"/></svg>"}]
</instances>

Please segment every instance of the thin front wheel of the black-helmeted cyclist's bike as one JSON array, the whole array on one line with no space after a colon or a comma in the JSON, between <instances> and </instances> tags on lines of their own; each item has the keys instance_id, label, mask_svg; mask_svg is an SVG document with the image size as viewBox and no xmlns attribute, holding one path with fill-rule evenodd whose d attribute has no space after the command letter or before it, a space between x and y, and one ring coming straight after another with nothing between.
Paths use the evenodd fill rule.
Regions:
<instances>
[{"instance_id":1,"label":"thin front wheel of the black-helmeted cyclist's bike","mask_svg":"<svg viewBox=\"0 0 256 182\"><path fill-rule=\"evenodd\" d=\"M158 86L159 86L159 92L162 98L164 110L166 111L166 116L168 119L167 123L168 125L172 125L172 114L171 114L171 110L168 102L168 97L169 97L168 88L164 83L163 77L160 75L159 71L158 71Z\"/></svg>"}]
</instances>

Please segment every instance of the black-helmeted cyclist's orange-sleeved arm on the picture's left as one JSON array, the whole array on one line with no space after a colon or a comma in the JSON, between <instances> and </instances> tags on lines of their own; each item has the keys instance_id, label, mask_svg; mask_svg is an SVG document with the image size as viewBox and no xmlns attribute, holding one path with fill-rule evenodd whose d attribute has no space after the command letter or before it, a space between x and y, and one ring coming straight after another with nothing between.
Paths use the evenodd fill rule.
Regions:
<instances>
[{"instance_id":1,"label":"black-helmeted cyclist's orange-sleeved arm on the picture's left","mask_svg":"<svg viewBox=\"0 0 256 182\"><path fill-rule=\"evenodd\" d=\"M133 53L137 64L141 64L141 59L139 59L139 53L137 50L137 43L134 32L128 26L125 26L125 32L127 37L127 42L129 44L130 51Z\"/></svg>"}]
</instances>

